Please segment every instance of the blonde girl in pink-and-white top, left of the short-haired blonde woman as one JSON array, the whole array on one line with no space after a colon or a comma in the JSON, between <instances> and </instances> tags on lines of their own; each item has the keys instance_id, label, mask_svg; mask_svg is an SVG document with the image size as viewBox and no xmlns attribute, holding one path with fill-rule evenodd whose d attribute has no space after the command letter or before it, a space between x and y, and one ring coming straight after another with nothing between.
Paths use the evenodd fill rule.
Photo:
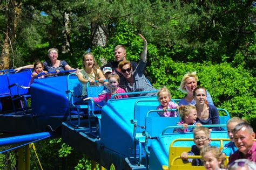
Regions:
<instances>
[{"instance_id":1,"label":"blonde girl in pink-and-white top, left of the short-haired blonde woman","mask_svg":"<svg viewBox=\"0 0 256 170\"><path fill-rule=\"evenodd\" d=\"M178 109L178 104L171 102L171 93L166 88L161 88L157 93L158 100L161 105L157 107L157 110L164 110L164 112L158 112L161 117L178 117L176 111L167 111L167 109Z\"/></svg>"}]
</instances>

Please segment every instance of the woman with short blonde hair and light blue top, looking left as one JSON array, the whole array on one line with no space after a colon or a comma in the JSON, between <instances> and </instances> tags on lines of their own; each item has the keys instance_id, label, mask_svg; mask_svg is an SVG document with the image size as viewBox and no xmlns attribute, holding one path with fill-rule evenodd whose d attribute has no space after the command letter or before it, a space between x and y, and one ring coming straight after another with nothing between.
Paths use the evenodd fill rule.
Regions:
<instances>
[{"instance_id":1,"label":"woman with short blonde hair and light blue top, looking left","mask_svg":"<svg viewBox=\"0 0 256 170\"><path fill-rule=\"evenodd\" d=\"M186 73L180 83L180 90L187 93L187 95L181 99L178 105L195 105L193 91L197 87L198 76L196 72L188 72ZM210 105L214 105L212 101L211 95L206 91L207 94L207 103Z\"/></svg>"}]
</instances>

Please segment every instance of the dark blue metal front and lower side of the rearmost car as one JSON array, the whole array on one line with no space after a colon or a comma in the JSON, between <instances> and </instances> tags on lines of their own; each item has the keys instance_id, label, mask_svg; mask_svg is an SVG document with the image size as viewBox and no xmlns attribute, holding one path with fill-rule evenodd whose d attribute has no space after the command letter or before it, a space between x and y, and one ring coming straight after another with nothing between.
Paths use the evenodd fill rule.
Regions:
<instances>
[{"instance_id":1,"label":"dark blue metal front and lower side of the rearmost car","mask_svg":"<svg viewBox=\"0 0 256 170\"><path fill-rule=\"evenodd\" d=\"M30 74L27 77L31 77ZM23 79L23 72L12 74ZM31 84L31 106L28 113L10 112L0 115L2 133L37 133L60 129L61 123L68 119L67 76L53 76L35 79ZM17 82L15 79L13 82ZM25 86L25 84L21 84Z\"/></svg>"}]
</instances>

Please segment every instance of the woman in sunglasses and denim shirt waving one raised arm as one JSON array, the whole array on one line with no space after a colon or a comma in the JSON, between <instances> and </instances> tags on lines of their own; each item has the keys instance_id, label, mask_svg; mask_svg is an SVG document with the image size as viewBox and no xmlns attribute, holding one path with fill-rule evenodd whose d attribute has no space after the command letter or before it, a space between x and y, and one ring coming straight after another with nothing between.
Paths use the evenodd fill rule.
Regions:
<instances>
[{"instance_id":1,"label":"woman in sunglasses and denim shirt waving one raised arm","mask_svg":"<svg viewBox=\"0 0 256 170\"><path fill-rule=\"evenodd\" d=\"M143 52L140 54L140 61L135 70L132 69L131 62L124 60L121 61L118 65L118 68L121 70L121 73L124 77L120 79L119 86L125 89L126 92L137 92L137 91L152 91L156 90L153 86L147 81L144 71L146 68L146 56L147 56L147 41L146 39L139 34L143 39L144 47ZM130 97L136 96L154 96L156 93L140 93L129 95Z\"/></svg>"}]
</instances>

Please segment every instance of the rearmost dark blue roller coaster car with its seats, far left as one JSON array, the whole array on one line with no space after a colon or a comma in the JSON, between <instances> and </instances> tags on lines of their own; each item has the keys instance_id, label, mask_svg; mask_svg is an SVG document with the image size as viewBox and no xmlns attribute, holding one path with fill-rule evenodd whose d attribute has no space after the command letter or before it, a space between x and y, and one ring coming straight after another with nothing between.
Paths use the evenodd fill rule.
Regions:
<instances>
[{"instance_id":1,"label":"rearmost dark blue roller coaster car with its seats, far left","mask_svg":"<svg viewBox=\"0 0 256 170\"><path fill-rule=\"evenodd\" d=\"M60 129L61 123L68 119L68 96L65 93L67 90L67 76L35 79L31 84L30 94L28 93L29 90L23 87L29 85L31 70L23 70L19 73L14 73L11 70L7 74L0 75L0 79L5 80L3 84L9 86L9 91L6 86L1 88L1 96L9 96L11 98L10 102L19 100L26 102L26 98L31 96L31 109L18 110L17 105L14 104L13 110L5 111L0 115L0 132L37 133L54 131ZM4 93L5 95L3 95Z\"/></svg>"}]
</instances>

